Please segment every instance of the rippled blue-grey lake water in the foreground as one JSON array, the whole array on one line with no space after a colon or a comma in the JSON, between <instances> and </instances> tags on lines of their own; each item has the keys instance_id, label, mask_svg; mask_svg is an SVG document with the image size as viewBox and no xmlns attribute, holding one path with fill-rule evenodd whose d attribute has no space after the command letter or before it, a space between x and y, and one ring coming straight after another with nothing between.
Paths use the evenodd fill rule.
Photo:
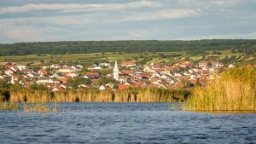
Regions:
<instances>
[{"instance_id":1,"label":"rippled blue-grey lake water in the foreground","mask_svg":"<svg viewBox=\"0 0 256 144\"><path fill-rule=\"evenodd\" d=\"M256 143L256 113L186 112L180 103L61 103L0 112L0 143Z\"/></svg>"}]
</instances>

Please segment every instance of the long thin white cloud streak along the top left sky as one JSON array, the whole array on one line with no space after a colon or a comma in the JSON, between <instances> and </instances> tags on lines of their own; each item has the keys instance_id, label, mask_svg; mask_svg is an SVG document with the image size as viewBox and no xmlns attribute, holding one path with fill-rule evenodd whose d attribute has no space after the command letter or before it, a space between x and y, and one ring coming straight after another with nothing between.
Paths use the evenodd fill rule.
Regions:
<instances>
[{"instance_id":1,"label":"long thin white cloud streak along the top left sky","mask_svg":"<svg viewBox=\"0 0 256 144\"><path fill-rule=\"evenodd\" d=\"M96 11L96 10L119 10L137 9L143 7L159 7L162 3L156 1L139 1L132 3L96 3L96 4L77 4L77 3L55 3L55 4L26 4L15 7L0 8L0 14L21 13L37 10L60 10L60 11Z\"/></svg>"}]
</instances>

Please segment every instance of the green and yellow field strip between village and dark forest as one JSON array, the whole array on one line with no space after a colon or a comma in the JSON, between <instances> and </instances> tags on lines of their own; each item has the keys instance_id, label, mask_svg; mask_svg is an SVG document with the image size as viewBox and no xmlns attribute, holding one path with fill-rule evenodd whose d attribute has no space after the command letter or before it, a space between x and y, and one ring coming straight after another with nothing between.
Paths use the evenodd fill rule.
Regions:
<instances>
[{"instance_id":1,"label":"green and yellow field strip between village and dark forest","mask_svg":"<svg viewBox=\"0 0 256 144\"><path fill-rule=\"evenodd\" d=\"M54 63L80 64L83 66L91 66L94 62L108 61L113 64L115 60L135 60L137 64L144 65L151 62L154 63L170 63L175 64L184 60L192 60L195 63L201 60L218 60L221 63L229 65L255 64L256 59L253 55L244 53L232 53L230 50L218 51L220 54L213 55L212 51L207 54L189 55L186 52L144 52L144 53L90 53L90 54L72 54L72 55L14 55L0 56L0 66L4 66L8 62L17 65L44 66Z\"/></svg>"}]
</instances>

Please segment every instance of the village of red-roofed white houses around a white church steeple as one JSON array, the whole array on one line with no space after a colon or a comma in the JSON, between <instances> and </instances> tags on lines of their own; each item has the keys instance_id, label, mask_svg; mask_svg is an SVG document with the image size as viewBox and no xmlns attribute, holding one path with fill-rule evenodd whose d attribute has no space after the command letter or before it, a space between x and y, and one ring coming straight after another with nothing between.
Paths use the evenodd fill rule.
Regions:
<instances>
[{"instance_id":1,"label":"village of red-roofed white houses around a white church steeple","mask_svg":"<svg viewBox=\"0 0 256 144\"><path fill-rule=\"evenodd\" d=\"M231 67L234 65L224 66L218 61L200 61L197 64L182 61L174 65L152 62L137 66L135 60L124 60L121 63L115 61L112 65L109 62L95 62L90 67L52 64L36 68L9 63L3 66L0 79L8 84L19 85L27 89L36 84L51 91L123 90L130 87L183 89L195 85L203 86L214 78L215 72L222 72ZM102 74L102 69L110 71L108 74Z\"/></svg>"}]
</instances>

